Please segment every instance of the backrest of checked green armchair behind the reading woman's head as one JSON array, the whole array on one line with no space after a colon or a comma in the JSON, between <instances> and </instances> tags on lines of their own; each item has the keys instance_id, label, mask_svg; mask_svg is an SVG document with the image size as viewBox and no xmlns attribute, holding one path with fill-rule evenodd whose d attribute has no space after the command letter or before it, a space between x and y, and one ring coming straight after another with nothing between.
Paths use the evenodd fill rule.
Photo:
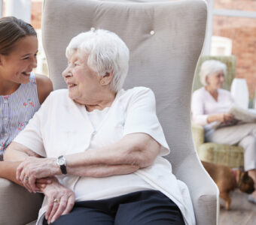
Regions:
<instances>
[{"instance_id":1,"label":"backrest of checked green armchair behind the reading woman's head","mask_svg":"<svg viewBox=\"0 0 256 225\"><path fill-rule=\"evenodd\" d=\"M200 83L200 77L199 77L200 68L203 62L211 59L223 62L227 66L227 73L225 74L223 89L230 91L231 83L233 79L236 77L236 57L234 55L228 55L228 56L202 55L197 63L197 69L195 71L193 92L196 91L197 89L200 89L203 86Z\"/></svg>"}]
</instances>

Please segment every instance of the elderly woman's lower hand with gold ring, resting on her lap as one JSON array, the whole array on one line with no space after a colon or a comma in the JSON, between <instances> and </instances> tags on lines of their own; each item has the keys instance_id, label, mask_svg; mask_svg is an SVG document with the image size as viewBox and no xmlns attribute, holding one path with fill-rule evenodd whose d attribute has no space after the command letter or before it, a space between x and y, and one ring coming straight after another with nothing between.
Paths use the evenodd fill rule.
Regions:
<instances>
[{"instance_id":1,"label":"elderly woman's lower hand with gold ring, resting on her lap","mask_svg":"<svg viewBox=\"0 0 256 225\"><path fill-rule=\"evenodd\" d=\"M47 211L45 219L53 223L63 214L68 214L75 204L75 193L59 184L56 178L51 178L52 184L38 184L47 196Z\"/></svg>"}]
</instances>

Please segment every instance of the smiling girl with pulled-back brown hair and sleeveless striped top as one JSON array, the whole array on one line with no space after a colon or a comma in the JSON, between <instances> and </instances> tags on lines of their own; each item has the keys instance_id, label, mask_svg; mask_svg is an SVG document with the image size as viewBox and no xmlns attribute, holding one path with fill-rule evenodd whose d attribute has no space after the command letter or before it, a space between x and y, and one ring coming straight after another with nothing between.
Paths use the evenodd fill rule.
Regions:
<instances>
[{"instance_id":1,"label":"smiling girl with pulled-back brown hair and sleeveless striped top","mask_svg":"<svg viewBox=\"0 0 256 225\"><path fill-rule=\"evenodd\" d=\"M37 52L37 35L29 23L0 19L0 177L14 182L18 164L2 161L5 149L53 90L49 78L32 72Z\"/></svg>"}]
</instances>

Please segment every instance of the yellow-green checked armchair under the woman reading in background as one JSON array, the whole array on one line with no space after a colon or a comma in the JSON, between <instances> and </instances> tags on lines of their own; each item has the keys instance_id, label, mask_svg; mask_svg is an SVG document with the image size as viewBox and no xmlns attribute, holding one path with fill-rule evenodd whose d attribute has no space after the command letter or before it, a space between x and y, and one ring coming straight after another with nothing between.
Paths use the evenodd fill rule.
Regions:
<instances>
[{"instance_id":1,"label":"yellow-green checked armchair under the woman reading in background","mask_svg":"<svg viewBox=\"0 0 256 225\"><path fill-rule=\"evenodd\" d=\"M227 74L225 76L223 88L230 91L231 83L236 75L236 58L230 56L202 56L197 64L197 70L194 76L193 90L202 87L198 76L202 63L209 59L215 59L227 65ZM234 145L222 145L214 142L204 142L203 127L197 124L192 125L192 132L197 152L200 160L210 163L222 164L230 168L239 168L243 166L243 148Z\"/></svg>"}]
</instances>

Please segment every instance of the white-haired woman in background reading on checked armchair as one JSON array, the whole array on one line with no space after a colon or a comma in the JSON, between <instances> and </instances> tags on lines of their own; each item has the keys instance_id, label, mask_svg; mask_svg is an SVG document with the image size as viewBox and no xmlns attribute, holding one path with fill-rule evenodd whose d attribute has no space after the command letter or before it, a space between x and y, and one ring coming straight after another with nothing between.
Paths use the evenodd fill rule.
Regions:
<instances>
[{"instance_id":1,"label":"white-haired woman in background reading on checked armchair","mask_svg":"<svg viewBox=\"0 0 256 225\"><path fill-rule=\"evenodd\" d=\"M240 145L244 148L245 170L254 180L256 187L256 124L241 124L227 113L235 104L230 92L221 89L227 67L222 62L209 60L203 62L200 81L203 88L194 92L192 97L192 118L194 123L205 127L206 141L226 145ZM214 128L221 122L218 128ZM248 196L256 203L256 191Z\"/></svg>"}]
</instances>

